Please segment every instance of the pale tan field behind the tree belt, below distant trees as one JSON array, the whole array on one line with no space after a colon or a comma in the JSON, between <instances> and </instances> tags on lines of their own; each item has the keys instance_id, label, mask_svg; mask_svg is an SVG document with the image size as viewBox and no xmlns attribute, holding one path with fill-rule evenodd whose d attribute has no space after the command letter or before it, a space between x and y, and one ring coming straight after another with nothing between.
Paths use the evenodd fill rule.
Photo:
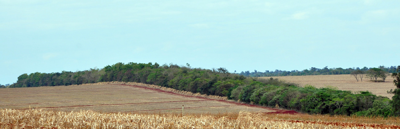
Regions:
<instances>
[{"instance_id":1,"label":"pale tan field behind the tree belt, below distant trees","mask_svg":"<svg viewBox=\"0 0 400 129\"><path fill-rule=\"evenodd\" d=\"M270 77L260 77L269 79ZM350 91L371 91L375 95L382 95L392 99L393 94L388 94L386 91L395 89L393 78L388 76L386 82L372 82L367 77L363 81L357 81L352 75L306 75L306 76L279 76L273 77L283 79L288 82L294 82L304 85L314 85L315 87L334 86L340 90Z\"/></svg>"}]
</instances>

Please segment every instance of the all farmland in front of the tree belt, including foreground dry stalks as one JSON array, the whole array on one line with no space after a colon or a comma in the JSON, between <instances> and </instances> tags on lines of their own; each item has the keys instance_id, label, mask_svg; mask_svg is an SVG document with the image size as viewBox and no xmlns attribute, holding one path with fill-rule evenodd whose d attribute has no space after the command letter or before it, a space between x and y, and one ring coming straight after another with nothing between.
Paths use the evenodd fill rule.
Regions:
<instances>
[{"instance_id":1,"label":"all farmland in front of the tree belt, including foreground dry stalks","mask_svg":"<svg viewBox=\"0 0 400 129\"><path fill-rule=\"evenodd\" d=\"M400 128L398 117L299 114L141 83L6 88L0 97L2 129Z\"/></svg>"}]
</instances>

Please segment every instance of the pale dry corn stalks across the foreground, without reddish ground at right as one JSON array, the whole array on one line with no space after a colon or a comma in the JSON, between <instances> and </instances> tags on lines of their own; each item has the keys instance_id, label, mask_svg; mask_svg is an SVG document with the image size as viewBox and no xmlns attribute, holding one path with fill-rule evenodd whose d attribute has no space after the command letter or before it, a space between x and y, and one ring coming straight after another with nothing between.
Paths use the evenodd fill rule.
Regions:
<instances>
[{"instance_id":1,"label":"pale dry corn stalks across the foreground, without reddish ground at right","mask_svg":"<svg viewBox=\"0 0 400 129\"><path fill-rule=\"evenodd\" d=\"M1 129L372 129L333 125L292 123L261 113L240 112L229 116L174 114L57 112L0 109Z\"/></svg>"}]
</instances>

